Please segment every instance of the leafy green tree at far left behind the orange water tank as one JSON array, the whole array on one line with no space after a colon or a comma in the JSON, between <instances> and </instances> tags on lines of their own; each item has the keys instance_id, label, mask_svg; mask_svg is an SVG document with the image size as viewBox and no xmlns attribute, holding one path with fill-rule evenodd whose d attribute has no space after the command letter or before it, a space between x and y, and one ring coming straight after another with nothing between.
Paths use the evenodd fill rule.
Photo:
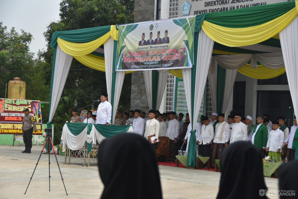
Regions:
<instances>
[{"instance_id":1,"label":"leafy green tree at far left behind the orange water tank","mask_svg":"<svg viewBox=\"0 0 298 199\"><path fill-rule=\"evenodd\" d=\"M29 49L32 39L32 35L24 30L21 34L14 27L7 31L0 22L0 96L5 96L5 85L9 80L20 77L26 82L26 99L49 100L50 88L45 85L43 71L48 64L42 60L40 53L34 59L34 53Z\"/></svg>"}]
</instances>

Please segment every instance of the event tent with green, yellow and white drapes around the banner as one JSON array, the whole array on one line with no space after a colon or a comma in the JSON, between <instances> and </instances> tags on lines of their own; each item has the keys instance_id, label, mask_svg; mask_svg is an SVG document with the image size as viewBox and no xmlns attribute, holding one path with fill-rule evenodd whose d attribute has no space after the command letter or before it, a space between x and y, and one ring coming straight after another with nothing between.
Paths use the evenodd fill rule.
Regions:
<instances>
[{"instance_id":1,"label":"event tent with green, yellow and white drapes around the banner","mask_svg":"<svg viewBox=\"0 0 298 199\"><path fill-rule=\"evenodd\" d=\"M192 129L195 129L194 121L198 117L207 74L209 80L210 77L214 80L211 84L217 86L219 85L217 73L221 67L225 69L220 71L221 76L225 74L225 78L220 80L224 89L221 91L216 89L218 90L216 96L223 97L221 102L215 100L216 103L213 101L216 98L212 98L213 104L217 105L215 110L223 112L225 102L229 101L230 88L234 84L238 70L258 79L276 77L286 71L294 111L298 111L297 15L298 1L289 1L196 16L193 68L169 71L176 77L184 77ZM112 118L114 118L125 74L124 71L115 72L117 35L116 26L53 34L51 47L54 48L54 57L49 122L52 121L57 108L73 57L88 67L106 72L107 90L111 96ZM145 76L145 79L147 78L145 84L149 85L146 86L148 96L154 88L156 89L156 85L153 86L152 82L153 75L152 72ZM158 77L158 73L155 75ZM159 93L162 93L161 91L162 88ZM151 99L155 101L152 104L157 104L156 100L161 95L154 96L156 98ZM191 166L196 164L194 133L195 130L191 131L187 160L188 165Z\"/></svg>"}]
</instances>

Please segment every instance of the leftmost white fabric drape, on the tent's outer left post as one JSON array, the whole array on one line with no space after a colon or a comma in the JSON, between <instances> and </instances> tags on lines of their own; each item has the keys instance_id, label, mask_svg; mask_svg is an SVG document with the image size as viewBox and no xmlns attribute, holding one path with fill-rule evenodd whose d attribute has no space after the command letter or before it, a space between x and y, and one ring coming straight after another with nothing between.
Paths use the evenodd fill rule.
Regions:
<instances>
[{"instance_id":1,"label":"leftmost white fabric drape, on the tent's outer left post","mask_svg":"<svg viewBox=\"0 0 298 199\"><path fill-rule=\"evenodd\" d=\"M60 46L57 44L56 61L55 61L55 72L52 82L52 98L51 98L51 109L49 114L49 122L52 122L56 108L59 103L59 99L63 92L63 88L66 82L66 78L72 63L73 56L66 54Z\"/></svg>"}]
</instances>

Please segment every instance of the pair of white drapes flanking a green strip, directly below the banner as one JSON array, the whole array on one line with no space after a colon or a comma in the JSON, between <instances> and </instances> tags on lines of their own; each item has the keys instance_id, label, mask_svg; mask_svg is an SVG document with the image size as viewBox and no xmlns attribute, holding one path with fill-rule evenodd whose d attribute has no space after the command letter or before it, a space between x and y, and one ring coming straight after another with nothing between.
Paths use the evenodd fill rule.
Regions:
<instances>
[{"instance_id":1,"label":"pair of white drapes flanking a green strip, directly below the banner","mask_svg":"<svg viewBox=\"0 0 298 199\"><path fill-rule=\"evenodd\" d=\"M170 70L157 70L159 72L158 75L158 87L157 87L157 101L156 101L156 110L159 110L159 107L162 103L162 96L164 94L164 89L167 85L167 76ZM145 80L145 88L146 94L148 98L149 108L152 109L152 70L143 71L144 80Z\"/></svg>"}]
</instances>

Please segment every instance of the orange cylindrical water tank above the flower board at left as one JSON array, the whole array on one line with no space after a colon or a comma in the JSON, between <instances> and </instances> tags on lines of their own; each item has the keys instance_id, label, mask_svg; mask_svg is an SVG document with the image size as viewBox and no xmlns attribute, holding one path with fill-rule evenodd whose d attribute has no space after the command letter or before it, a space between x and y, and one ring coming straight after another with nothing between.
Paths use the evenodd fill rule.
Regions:
<instances>
[{"instance_id":1,"label":"orange cylindrical water tank above the flower board at left","mask_svg":"<svg viewBox=\"0 0 298 199\"><path fill-rule=\"evenodd\" d=\"M26 99L26 82L15 77L8 82L8 99Z\"/></svg>"}]
</instances>

